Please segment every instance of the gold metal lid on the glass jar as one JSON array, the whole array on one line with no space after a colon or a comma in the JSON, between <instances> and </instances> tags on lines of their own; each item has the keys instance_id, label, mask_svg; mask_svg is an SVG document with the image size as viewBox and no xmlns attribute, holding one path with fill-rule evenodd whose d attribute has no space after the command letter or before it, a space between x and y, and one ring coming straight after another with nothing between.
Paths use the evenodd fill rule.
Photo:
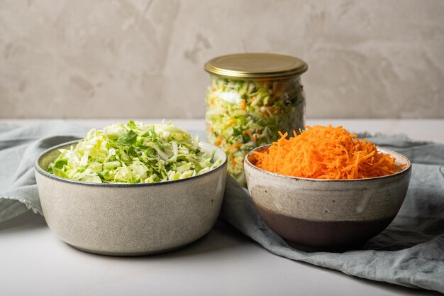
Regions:
<instances>
[{"instance_id":1,"label":"gold metal lid on the glass jar","mask_svg":"<svg viewBox=\"0 0 444 296\"><path fill-rule=\"evenodd\" d=\"M237 53L214 57L204 69L214 75L241 79L277 79L300 75L309 68L303 60L276 53Z\"/></svg>"}]
</instances>

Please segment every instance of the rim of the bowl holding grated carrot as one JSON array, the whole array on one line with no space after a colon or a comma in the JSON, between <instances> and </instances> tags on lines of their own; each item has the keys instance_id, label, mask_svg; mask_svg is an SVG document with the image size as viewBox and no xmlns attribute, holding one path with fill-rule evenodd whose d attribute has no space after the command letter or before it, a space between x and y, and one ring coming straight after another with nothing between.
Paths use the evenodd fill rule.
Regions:
<instances>
[{"instance_id":1,"label":"rim of the bowl holding grated carrot","mask_svg":"<svg viewBox=\"0 0 444 296\"><path fill-rule=\"evenodd\" d=\"M367 178L363 178L363 179L315 179L315 178L308 178L308 177L294 177L294 176L289 176L289 175L282 175L282 174L278 174L277 172L270 172L268 170L264 170L262 168L257 168L256 165L253 165L250 160L248 158L250 158L250 156L252 155L252 153L254 153L255 151L258 150L263 150L265 148L268 148L272 146L272 144L265 144L262 146L259 146L257 148L254 148L253 150L251 150L247 155L245 155L244 158L244 166L249 165L251 168L253 168L253 170L258 170L262 173L265 173L267 175L272 175L275 177L284 177L290 180L305 180L305 181L311 181L311 182L366 182L366 181L374 181L374 180L382 180L382 179L387 179L389 177L394 177L394 176L398 176L398 175L402 175L405 174L406 172L409 172L409 170L411 170L411 161L409 160L409 158L406 158L406 156L402 155L401 153L398 153L394 150L390 150L387 148L382 148L377 146L377 150L382 152L389 152L390 155L396 155L396 158L404 158L404 160L406 160L406 167L403 170L400 170L399 172L395 172L394 174L390 174L390 175L385 175L385 176L379 176L379 177L367 177Z\"/></svg>"}]
</instances>

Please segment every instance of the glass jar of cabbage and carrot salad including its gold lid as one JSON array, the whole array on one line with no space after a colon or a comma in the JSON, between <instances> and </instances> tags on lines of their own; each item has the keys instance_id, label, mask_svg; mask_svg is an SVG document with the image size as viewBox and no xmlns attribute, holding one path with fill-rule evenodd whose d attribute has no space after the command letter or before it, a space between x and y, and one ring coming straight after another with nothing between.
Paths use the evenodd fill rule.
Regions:
<instances>
[{"instance_id":1,"label":"glass jar of cabbage and carrot salad including its gold lid","mask_svg":"<svg viewBox=\"0 0 444 296\"><path fill-rule=\"evenodd\" d=\"M305 94L300 75L306 62L289 55L241 53L205 64L209 143L228 155L228 173L245 186L243 160L253 148L272 143L279 131L304 128Z\"/></svg>"}]
</instances>

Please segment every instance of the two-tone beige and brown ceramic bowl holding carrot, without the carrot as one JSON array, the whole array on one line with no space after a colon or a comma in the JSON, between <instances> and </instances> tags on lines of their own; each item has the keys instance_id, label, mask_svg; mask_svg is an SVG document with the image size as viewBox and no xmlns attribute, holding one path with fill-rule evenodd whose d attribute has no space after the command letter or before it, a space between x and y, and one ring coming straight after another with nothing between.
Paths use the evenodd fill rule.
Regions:
<instances>
[{"instance_id":1,"label":"two-tone beige and brown ceramic bowl holding carrot, without the carrot","mask_svg":"<svg viewBox=\"0 0 444 296\"><path fill-rule=\"evenodd\" d=\"M403 155L379 148L406 163L401 172L355 180L289 177L255 166L245 156L248 190L262 220L290 245L304 251L343 251L383 231L398 213L411 175Z\"/></svg>"}]
</instances>

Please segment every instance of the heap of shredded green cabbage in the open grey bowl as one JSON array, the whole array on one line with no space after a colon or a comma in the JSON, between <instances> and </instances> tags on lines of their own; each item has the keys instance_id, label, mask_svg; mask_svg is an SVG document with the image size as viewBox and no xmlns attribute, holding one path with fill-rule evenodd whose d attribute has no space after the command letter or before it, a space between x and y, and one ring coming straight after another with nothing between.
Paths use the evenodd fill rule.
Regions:
<instances>
[{"instance_id":1,"label":"heap of shredded green cabbage in the open grey bowl","mask_svg":"<svg viewBox=\"0 0 444 296\"><path fill-rule=\"evenodd\" d=\"M58 177L96 183L152 183L201 175L222 160L199 148L199 138L169 124L129 121L92 129L48 166Z\"/></svg>"}]
</instances>

